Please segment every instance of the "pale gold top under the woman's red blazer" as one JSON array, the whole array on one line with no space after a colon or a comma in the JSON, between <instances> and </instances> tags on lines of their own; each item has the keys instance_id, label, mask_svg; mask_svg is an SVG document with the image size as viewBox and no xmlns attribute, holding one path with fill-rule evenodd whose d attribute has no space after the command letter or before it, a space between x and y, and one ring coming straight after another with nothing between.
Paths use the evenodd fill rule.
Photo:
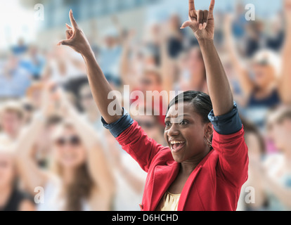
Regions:
<instances>
[{"instance_id":1,"label":"pale gold top under the woman's red blazer","mask_svg":"<svg viewBox=\"0 0 291 225\"><path fill-rule=\"evenodd\" d=\"M178 211L180 196L181 194L174 195L167 191L160 200L157 211Z\"/></svg>"}]
</instances>

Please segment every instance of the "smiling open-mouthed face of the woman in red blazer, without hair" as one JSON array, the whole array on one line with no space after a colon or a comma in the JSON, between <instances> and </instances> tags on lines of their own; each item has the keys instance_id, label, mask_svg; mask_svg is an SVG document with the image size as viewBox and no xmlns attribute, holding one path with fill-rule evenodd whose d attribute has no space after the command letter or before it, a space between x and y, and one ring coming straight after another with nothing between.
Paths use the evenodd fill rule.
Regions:
<instances>
[{"instance_id":1,"label":"smiling open-mouthed face of the woman in red blazer, without hair","mask_svg":"<svg viewBox=\"0 0 291 225\"><path fill-rule=\"evenodd\" d=\"M202 122L202 117L195 112L192 103L179 103L183 115L176 115L175 106L169 108L165 120L164 138L172 150L176 162L185 162L197 157L204 157L209 147L205 137L212 136L212 126Z\"/></svg>"}]
</instances>

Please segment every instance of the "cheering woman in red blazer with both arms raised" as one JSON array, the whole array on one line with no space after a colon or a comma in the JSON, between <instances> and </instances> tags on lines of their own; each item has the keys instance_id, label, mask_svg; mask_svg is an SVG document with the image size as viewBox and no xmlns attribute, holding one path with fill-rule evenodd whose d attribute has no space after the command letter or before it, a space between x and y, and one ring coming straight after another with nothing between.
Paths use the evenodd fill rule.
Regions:
<instances>
[{"instance_id":1,"label":"cheering woman in red blazer with both arms raised","mask_svg":"<svg viewBox=\"0 0 291 225\"><path fill-rule=\"evenodd\" d=\"M72 11L67 39L59 42L82 54L104 126L148 172L141 210L236 210L247 180L243 125L213 41L214 0L209 11L196 11L193 0L189 7L189 20L181 28L190 27L198 39L210 96L188 91L170 103L164 131L169 147L148 138L120 105L116 110L123 115L110 115L112 89ZM183 115L176 114L177 106Z\"/></svg>"}]
</instances>

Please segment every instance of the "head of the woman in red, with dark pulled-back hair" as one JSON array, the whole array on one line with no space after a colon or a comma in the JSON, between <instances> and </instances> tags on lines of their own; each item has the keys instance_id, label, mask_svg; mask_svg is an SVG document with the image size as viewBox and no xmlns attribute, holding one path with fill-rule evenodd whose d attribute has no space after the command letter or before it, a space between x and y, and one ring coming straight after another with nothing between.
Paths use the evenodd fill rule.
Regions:
<instances>
[{"instance_id":1,"label":"head of the woman in red, with dark pulled-back hair","mask_svg":"<svg viewBox=\"0 0 291 225\"><path fill-rule=\"evenodd\" d=\"M179 115L178 122L174 123L175 105L183 107L183 115ZM185 162L193 155L200 155L198 161L205 158L212 148L212 125L208 114L212 110L212 102L207 94L198 91L187 91L176 96L169 104L165 120L164 138L168 141L176 162ZM200 131L207 130L202 136ZM205 145L205 143L207 143ZM195 146L195 151L193 150ZM209 149L210 148L210 149ZM197 152L196 152L197 150Z\"/></svg>"}]
</instances>

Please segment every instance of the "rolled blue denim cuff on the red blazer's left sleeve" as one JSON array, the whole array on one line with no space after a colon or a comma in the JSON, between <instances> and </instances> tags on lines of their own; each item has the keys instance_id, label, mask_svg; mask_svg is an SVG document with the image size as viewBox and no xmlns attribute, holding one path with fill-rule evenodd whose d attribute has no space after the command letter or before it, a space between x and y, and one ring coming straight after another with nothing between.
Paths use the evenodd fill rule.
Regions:
<instances>
[{"instance_id":1,"label":"rolled blue denim cuff on the red blazer's left sleeve","mask_svg":"<svg viewBox=\"0 0 291 225\"><path fill-rule=\"evenodd\" d=\"M112 124L108 124L107 122L105 122L103 117L101 118L103 126L106 129L109 129L110 133L115 137L115 139L117 139L120 136L120 134L122 134L127 128L129 128L134 123L134 120L131 119L129 113L127 113L127 110L123 108L123 112L124 112L123 116Z\"/></svg>"}]
</instances>

